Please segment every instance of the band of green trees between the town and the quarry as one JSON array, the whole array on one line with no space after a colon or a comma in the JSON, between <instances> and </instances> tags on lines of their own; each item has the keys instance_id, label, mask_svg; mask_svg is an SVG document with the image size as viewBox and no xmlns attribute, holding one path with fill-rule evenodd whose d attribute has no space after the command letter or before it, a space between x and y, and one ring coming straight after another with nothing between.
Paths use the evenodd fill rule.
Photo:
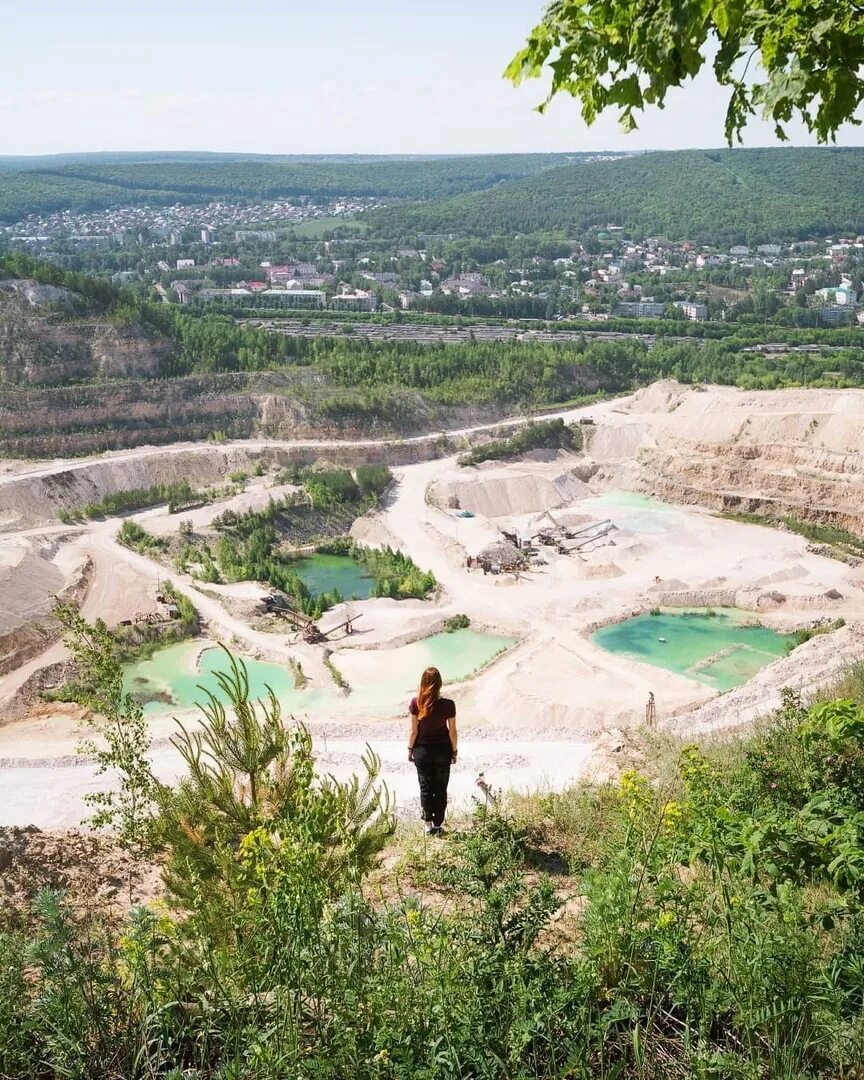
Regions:
<instances>
[{"instance_id":1,"label":"band of green trees between the town and the quarry","mask_svg":"<svg viewBox=\"0 0 864 1080\"><path fill-rule=\"evenodd\" d=\"M308 367L321 377L316 391L320 414L360 424L399 410L394 392L419 394L438 405L511 409L626 392L660 378L768 390L864 387L864 357L853 343L854 330L719 327L724 336L712 339L705 324L694 327L704 337L665 338L654 323L650 327L658 335L653 345L635 337L584 337L557 343L532 339L489 342L472 340L470 335L458 345L427 345L373 342L359 327L348 336L309 339L241 326L225 315L190 314L178 306L154 305L145 294L22 255L0 259L0 272L3 270L73 288L84 310L167 338L172 348L163 361L162 377ZM678 335L680 327L673 327L672 333ZM765 340L766 333L773 341L832 342L849 348L823 353L745 351Z\"/></svg>"}]
</instances>

